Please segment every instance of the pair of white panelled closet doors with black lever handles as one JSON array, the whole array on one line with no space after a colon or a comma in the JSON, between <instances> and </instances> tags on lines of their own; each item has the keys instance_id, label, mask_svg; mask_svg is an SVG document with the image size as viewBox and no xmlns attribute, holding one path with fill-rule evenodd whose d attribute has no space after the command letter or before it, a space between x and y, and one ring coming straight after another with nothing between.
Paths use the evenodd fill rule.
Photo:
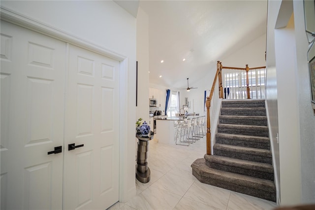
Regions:
<instances>
[{"instance_id":1,"label":"pair of white panelled closet doors with black lever handles","mask_svg":"<svg viewBox=\"0 0 315 210\"><path fill-rule=\"evenodd\" d=\"M0 46L1 209L116 203L119 62L3 21Z\"/></svg>"}]
</instances>

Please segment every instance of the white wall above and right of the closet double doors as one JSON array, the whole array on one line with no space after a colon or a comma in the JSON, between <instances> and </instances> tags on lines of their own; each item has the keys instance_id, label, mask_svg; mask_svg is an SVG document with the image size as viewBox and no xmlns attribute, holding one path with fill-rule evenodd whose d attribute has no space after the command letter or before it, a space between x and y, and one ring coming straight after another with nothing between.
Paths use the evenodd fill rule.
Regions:
<instances>
[{"instance_id":1,"label":"white wall above and right of the closet double doors","mask_svg":"<svg viewBox=\"0 0 315 210\"><path fill-rule=\"evenodd\" d=\"M120 176L124 190L120 199L126 202L136 194L135 189L135 63L136 63L136 19L113 1L2 1L1 6L52 26L69 35L94 43L102 48L126 57L128 78L127 103L124 119L124 161ZM122 145L121 145L122 146ZM122 188L121 188L122 189Z\"/></svg>"}]
</instances>

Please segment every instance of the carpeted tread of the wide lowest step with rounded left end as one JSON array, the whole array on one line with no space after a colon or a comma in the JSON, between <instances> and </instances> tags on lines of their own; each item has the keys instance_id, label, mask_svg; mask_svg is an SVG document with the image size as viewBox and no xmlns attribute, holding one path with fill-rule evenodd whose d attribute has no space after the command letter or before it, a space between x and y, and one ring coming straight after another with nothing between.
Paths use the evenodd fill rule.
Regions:
<instances>
[{"instance_id":1,"label":"carpeted tread of the wide lowest step with rounded left end","mask_svg":"<svg viewBox=\"0 0 315 210\"><path fill-rule=\"evenodd\" d=\"M249 186L256 189L263 189L269 192L275 192L276 186L273 181L267 179L256 178L247 175L240 175L231 172L225 172L218 169L212 169L205 163L204 158L195 160L191 167L201 176L215 175L215 179L221 179L226 182L235 182L243 186Z\"/></svg>"}]
</instances>

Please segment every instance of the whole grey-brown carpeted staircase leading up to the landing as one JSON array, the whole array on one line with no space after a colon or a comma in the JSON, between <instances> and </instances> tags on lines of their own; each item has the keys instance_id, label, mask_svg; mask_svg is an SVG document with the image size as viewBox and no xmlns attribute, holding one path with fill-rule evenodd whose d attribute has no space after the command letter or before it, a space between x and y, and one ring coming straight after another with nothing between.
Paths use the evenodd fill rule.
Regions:
<instances>
[{"instance_id":1,"label":"whole grey-brown carpeted staircase leading up to the landing","mask_svg":"<svg viewBox=\"0 0 315 210\"><path fill-rule=\"evenodd\" d=\"M264 100L223 100L214 155L191 164L203 183L276 202Z\"/></svg>"}]
</instances>

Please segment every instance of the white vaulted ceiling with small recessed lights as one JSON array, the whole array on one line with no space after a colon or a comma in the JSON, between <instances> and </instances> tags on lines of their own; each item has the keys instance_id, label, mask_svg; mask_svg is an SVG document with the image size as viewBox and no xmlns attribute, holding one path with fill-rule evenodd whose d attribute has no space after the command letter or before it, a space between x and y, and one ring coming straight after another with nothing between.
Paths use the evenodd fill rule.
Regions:
<instances>
[{"instance_id":1,"label":"white vaulted ceiling with small recessed lights","mask_svg":"<svg viewBox=\"0 0 315 210\"><path fill-rule=\"evenodd\" d=\"M185 88L188 77L189 86L198 86L210 63L266 34L267 0L140 0L139 6L149 17L150 83L165 87Z\"/></svg>"}]
</instances>

